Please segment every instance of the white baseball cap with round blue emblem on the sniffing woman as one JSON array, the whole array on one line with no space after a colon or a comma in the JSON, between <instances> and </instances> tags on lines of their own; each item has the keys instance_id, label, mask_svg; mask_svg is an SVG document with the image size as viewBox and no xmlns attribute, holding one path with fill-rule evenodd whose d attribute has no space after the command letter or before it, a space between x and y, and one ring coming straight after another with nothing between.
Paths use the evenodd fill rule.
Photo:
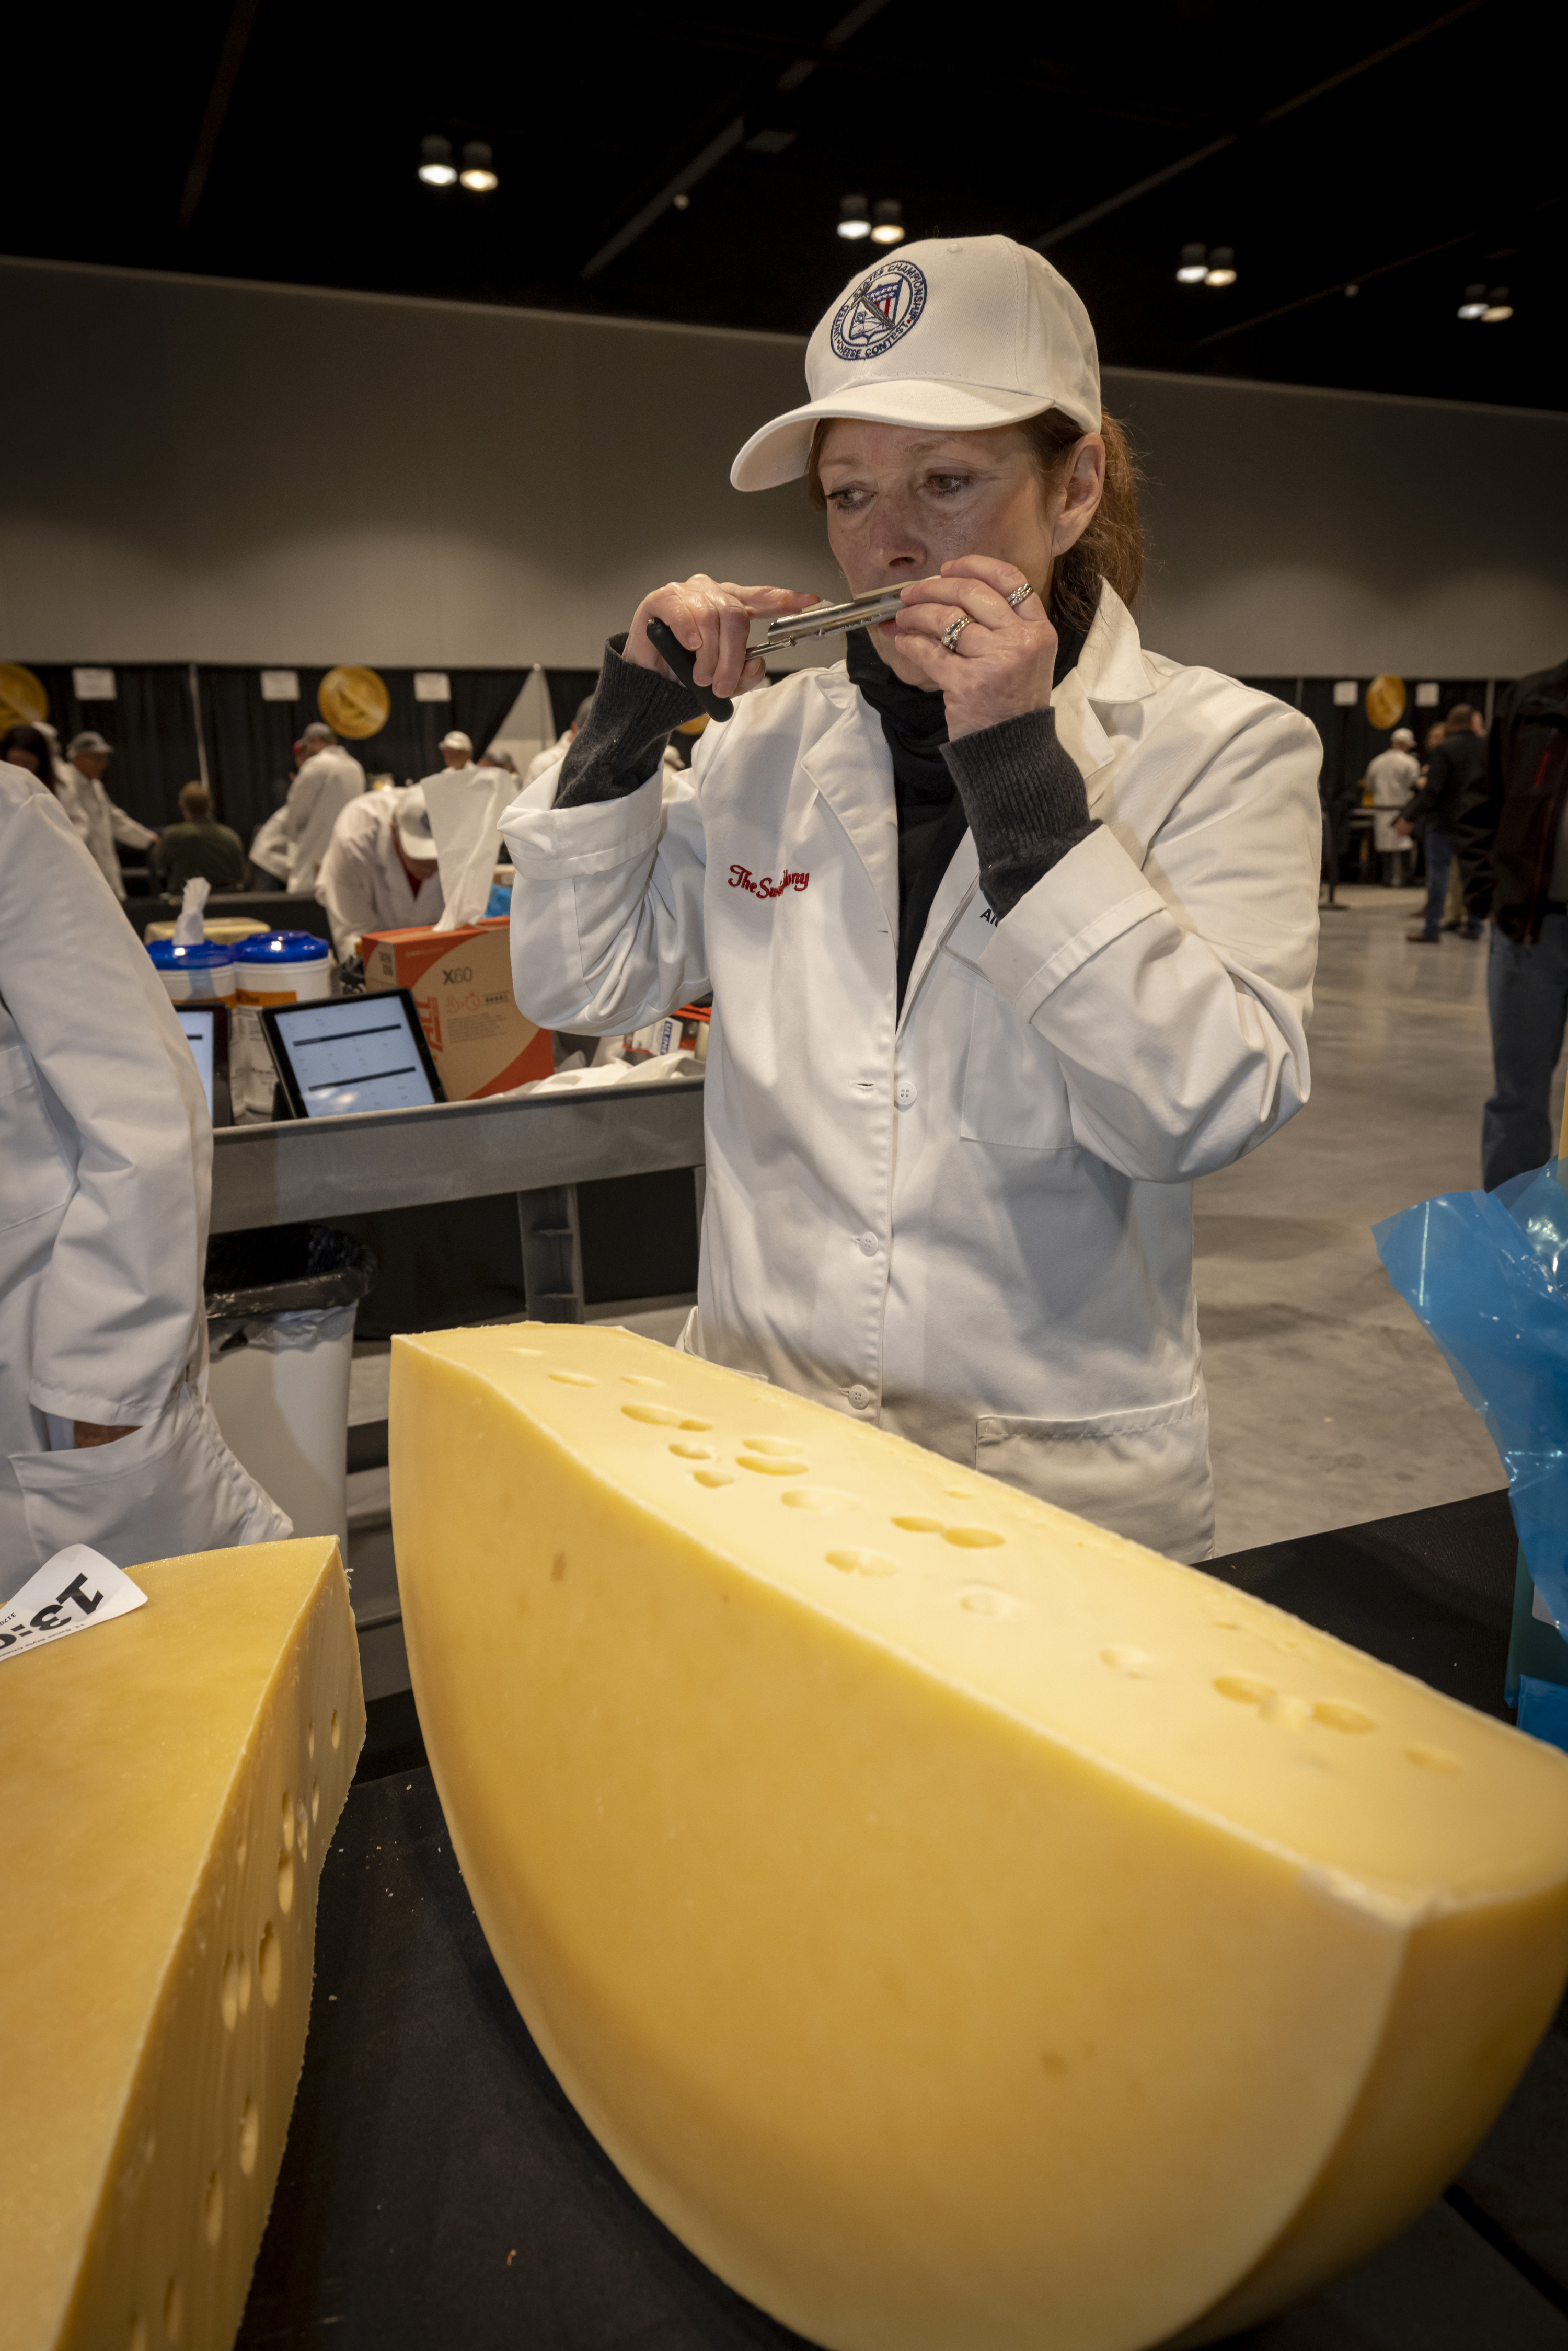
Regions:
<instances>
[{"instance_id":1,"label":"white baseball cap with round blue emblem on the sniffing woman","mask_svg":"<svg viewBox=\"0 0 1568 2351\"><path fill-rule=\"evenodd\" d=\"M752 433L736 489L795 482L818 416L985 433L1041 409L1100 430L1088 310L1044 254L1011 237L926 237L858 270L806 343L811 400Z\"/></svg>"}]
</instances>

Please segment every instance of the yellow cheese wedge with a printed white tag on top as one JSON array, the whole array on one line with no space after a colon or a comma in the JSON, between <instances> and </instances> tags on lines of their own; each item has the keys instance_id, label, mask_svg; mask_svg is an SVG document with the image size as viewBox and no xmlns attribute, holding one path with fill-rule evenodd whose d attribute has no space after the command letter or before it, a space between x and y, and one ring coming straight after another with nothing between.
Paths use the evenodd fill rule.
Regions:
<instances>
[{"instance_id":1,"label":"yellow cheese wedge with a printed white tag on top","mask_svg":"<svg viewBox=\"0 0 1568 2351\"><path fill-rule=\"evenodd\" d=\"M0 2346L223 2351L364 1735L329 1538L132 1570L0 1665Z\"/></svg>"}]
</instances>

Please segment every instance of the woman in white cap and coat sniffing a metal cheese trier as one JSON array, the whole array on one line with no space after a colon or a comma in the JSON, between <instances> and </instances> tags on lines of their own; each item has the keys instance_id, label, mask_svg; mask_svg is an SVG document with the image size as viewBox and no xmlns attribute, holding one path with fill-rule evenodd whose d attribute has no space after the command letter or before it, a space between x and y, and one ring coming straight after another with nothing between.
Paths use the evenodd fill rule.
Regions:
<instances>
[{"instance_id":1,"label":"woman in white cap and coat sniffing a metal cheese trier","mask_svg":"<svg viewBox=\"0 0 1568 2351\"><path fill-rule=\"evenodd\" d=\"M900 247L806 383L731 480L804 473L903 609L743 691L665 806L693 696L646 623L731 696L811 597L642 600L505 813L517 1002L611 1034L712 990L686 1347L1204 1559L1190 1187L1307 1098L1319 741L1145 651L1133 468L1039 254Z\"/></svg>"}]
</instances>

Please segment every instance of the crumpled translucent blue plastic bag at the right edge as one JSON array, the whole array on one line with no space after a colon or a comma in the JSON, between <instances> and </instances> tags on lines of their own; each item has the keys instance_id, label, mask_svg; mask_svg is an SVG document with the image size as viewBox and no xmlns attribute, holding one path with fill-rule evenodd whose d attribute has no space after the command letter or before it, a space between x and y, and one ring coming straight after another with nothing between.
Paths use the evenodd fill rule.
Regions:
<instances>
[{"instance_id":1,"label":"crumpled translucent blue plastic bag at the right edge","mask_svg":"<svg viewBox=\"0 0 1568 2351\"><path fill-rule=\"evenodd\" d=\"M1568 1192L1563 1161L1373 1225L1389 1281L1448 1357L1509 1479L1530 1575L1568 1625Z\"/></svg>"}]
</instances>

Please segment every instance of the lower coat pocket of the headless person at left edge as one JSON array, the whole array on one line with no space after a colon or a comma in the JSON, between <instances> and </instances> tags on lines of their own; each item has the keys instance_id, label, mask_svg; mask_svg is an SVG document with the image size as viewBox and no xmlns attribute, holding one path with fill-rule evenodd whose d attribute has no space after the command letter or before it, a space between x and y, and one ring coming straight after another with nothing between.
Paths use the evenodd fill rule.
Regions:
<instances>
[{"instance_id":1,"label":"lower coat pocket of the headless person at left edge","mask_svg":"<svg viewBox=\"0 0 1568 2351\"><path fill-rule=\"evenodd\" d=\"M33 1566L68 1542L87 1542L118 1568L136 1568L146 1559L282 1542L294 1533L223 1444L212 1408L188 1387L158 1420L108 1446L12 1453L12 1474L38 1552Z\"/></svg>"}]
</instances>

